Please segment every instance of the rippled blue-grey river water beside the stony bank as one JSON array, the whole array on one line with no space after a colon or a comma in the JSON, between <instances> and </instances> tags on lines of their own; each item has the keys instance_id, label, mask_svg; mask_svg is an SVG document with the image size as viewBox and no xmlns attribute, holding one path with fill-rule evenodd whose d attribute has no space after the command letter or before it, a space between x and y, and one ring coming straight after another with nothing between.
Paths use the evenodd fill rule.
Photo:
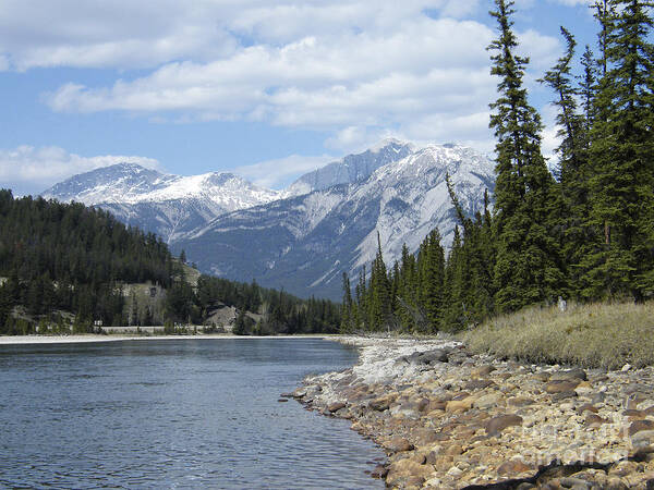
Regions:
<instances>
[{"instance_id":1,"label":"rippled blue-grey river water beside the stony bank","mask_svg":"<svg viewBox=\"0 0 654 490\"><path fill-rule=\"evenodd\" d=\"M0 487L384 488L349 422L278 402L355 360L318 339L0 345Z\"/></svg>"}]
</instances>

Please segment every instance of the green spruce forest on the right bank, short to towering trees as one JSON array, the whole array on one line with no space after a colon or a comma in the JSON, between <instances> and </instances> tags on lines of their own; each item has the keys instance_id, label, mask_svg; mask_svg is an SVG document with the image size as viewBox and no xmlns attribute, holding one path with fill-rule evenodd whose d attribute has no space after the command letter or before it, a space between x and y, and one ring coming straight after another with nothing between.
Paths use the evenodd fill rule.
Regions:
<instances>
[{"instance_id":1,"label":"green spruce forest on the right bank, short to towering trees","mask_svg":"<svg viewBox=\"0 0 654 490\"><path fill-rule=\"evenodd\" d=\"M438 230L387 267L379 245L354 287L343 274L341 331L433 333L471 328L529 305L654 296L654 45L652 5L593 5L597 45L581 57L573 33L538 79L552 89L560 145L550 172L543 123L530 105L513 2L495 1L488 46L498 98L496 187L484 212L465 216L445 254ZM491 205L492 209L491 209ZM370 275L370 277L368 277Z\"/></svg>"}]
</instances>

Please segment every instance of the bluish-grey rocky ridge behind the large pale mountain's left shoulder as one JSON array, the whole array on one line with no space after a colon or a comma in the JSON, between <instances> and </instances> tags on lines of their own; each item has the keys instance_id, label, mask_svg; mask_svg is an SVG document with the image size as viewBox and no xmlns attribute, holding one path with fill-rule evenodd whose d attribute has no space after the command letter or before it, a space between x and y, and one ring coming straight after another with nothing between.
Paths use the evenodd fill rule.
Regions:
<instances>
[{"instance_id":1,"label":"bluish-grey rocky ridge behind the large pale mountain's left shoulder","mask_svg":"<svg viewBox=\"0 0 654 490\"><path fill-rule=\"evenodd\" d=\"M401 160L415 150L416 146L412 143L384 139L362 154L348 155L341 160L302 175L287 188L287 195L300 196L338 184L363 182L379 167Z\"/></svg>"}]
</instances>

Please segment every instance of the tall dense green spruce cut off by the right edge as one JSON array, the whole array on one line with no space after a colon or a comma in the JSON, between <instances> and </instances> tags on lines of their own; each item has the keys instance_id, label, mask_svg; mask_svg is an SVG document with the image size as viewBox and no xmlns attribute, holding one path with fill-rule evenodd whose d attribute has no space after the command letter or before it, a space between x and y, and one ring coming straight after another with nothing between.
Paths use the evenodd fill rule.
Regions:
<instances>
[{"instance_id":1,"label":"tall dense green spruce cut off by the right edge","mask_svg":"<svg viewBox=\"0 0 654 490\"><path fill-rule=\"evenodd\" d=\"M598 240L584 261L589 298L654 293L654 46L651 7L610 0L600 11L605 75L590 146L591 213Z\"/></svg>"}]
</instances>

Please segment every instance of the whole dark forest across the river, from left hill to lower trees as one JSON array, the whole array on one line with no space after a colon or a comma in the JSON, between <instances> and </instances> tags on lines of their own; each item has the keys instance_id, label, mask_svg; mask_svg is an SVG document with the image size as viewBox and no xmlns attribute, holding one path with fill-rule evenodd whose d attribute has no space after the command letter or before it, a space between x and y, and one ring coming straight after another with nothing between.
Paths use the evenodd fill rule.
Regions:
<instances>
[{"instance_id":1,"label":"whole dark forest across the river, from left hill to lower trees","mask_svg":"<svg viewBox=\"0 0 654 490\"><path fill-rule=\"evenodd\" d=\"M234 333L335 332L322 299L199 275L153 233L81 204L14 198L0 189L0 334L85 333L98 326L203 324L235 307ZM193 282L193 283L192 283ZM208 324L208 330L215 326Z\"/></svg>"}]
</instances>

